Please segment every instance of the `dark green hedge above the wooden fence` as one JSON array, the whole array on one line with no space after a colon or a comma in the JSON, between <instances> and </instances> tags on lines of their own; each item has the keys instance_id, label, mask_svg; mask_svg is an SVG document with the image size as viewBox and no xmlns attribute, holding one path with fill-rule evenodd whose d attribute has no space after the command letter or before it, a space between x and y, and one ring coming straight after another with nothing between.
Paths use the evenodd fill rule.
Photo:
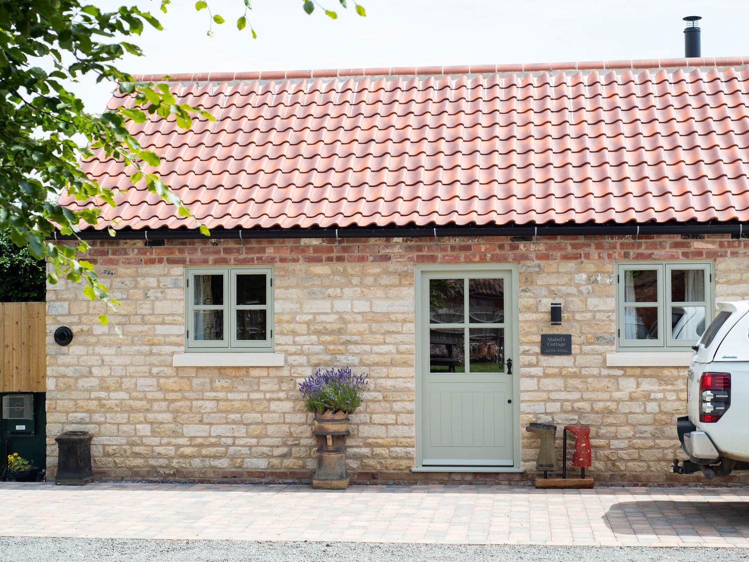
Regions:
<instances>
[{"instance_id":1,"label":"dark green hedge above the wooden fence","mask_svg":"<svg viewBox=\"0 0 749 562\"><path fill-rule=\"evenodd\" d=\"M0 231L0 302L45 300L44 262L31 256L28 247L10 241L10 232Z\"/></svg>"}]
</instances>

